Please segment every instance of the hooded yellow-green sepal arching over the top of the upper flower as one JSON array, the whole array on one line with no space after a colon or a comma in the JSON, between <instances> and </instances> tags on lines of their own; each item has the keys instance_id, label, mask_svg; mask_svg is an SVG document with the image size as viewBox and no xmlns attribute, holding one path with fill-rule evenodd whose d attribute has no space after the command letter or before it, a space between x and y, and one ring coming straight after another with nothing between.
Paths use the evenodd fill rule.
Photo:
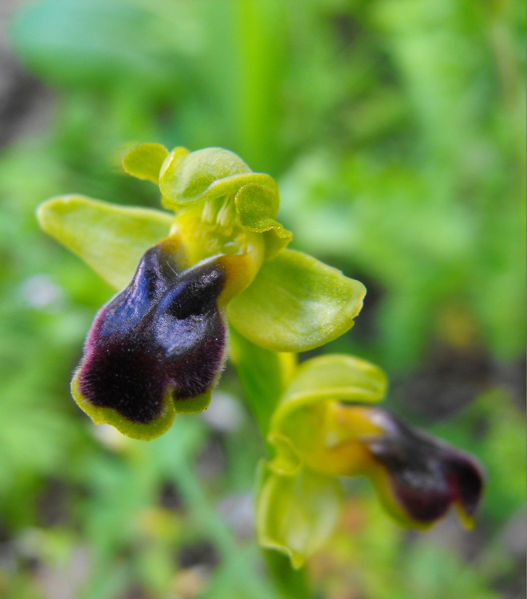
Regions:
<instances>
[{"instance_id":1,"label":"hooded yellow-green sepal arching over the top of the upper flower","mask_svg":"<svg viewBox=\"0 0 527 599\"><path fill-rule=\"evenodd\" d=\"M159 187L165 203L191 204L236 193L248 183L259 183L274 189L272 177L253 173L236 154L222 148L205 148L185 156L176 153L166 158L159 177Z\"/></svg>"}]
</instances>

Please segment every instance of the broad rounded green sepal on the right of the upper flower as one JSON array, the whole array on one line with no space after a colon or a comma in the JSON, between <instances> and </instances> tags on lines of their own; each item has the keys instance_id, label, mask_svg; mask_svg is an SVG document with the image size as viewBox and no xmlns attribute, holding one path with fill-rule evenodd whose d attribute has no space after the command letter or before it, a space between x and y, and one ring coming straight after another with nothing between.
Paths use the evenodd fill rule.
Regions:
<instances>
[{"instance_id":1,"label":"broad rounded green sepal on the right of the upper flower","mask_svg":"<svg viewBox=\"0 0 527 599\"><path fill-rule=\"evenodd\" d=\"M251 285L228 306L231 324L277 352L305 352L353 326L366 289L340 270L295 250L263 263Z\"/></svg>"}]
</instances>

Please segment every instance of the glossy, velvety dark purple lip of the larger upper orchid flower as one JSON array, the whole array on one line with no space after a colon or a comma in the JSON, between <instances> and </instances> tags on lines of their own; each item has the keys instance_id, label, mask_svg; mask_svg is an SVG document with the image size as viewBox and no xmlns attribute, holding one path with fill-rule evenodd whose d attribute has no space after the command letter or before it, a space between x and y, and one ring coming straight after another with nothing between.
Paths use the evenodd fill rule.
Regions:
<instances>
[{"instance_id":1,"label":"glossy, velvety dark purple lip of the larger upper orchid flower","mask_svg":"<svg viewBox=\"0 0 527 599\"><path fill-rule=\"evenodd\" d=\"M87 337L78 388L93 406L135 423L204 394L223 367L220 261L178 268L174 240L150 248L130 285L99 311Z\"/></svg>"}]
</instances>

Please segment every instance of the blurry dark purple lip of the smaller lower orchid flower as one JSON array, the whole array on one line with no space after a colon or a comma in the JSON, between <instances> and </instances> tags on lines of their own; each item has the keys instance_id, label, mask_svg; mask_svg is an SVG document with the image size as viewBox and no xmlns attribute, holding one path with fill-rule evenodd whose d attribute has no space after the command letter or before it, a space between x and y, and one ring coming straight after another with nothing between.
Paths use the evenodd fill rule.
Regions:
<instances>
[{"instance_id":1,"label":"blurry dark purple lip of the smaller lower orchid flower","mask_svg":"<svg viewBox=\"0 0 527 599\"><path fill-rule=\"evenodd\" d=\"M392 492L408 516L414 521L434 522L454 503L467 516L474 515L483 491L483 473L477 463L395 416L383 410L375 412L375 420L386 433L367 441L367 446L386 468Z\"/></svg>"}]
</instances>

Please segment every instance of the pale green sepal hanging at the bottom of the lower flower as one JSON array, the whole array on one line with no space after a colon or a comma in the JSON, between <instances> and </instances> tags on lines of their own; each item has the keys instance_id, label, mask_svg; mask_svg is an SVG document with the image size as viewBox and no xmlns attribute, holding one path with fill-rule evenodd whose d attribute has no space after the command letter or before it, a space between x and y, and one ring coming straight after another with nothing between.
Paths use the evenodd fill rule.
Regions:
<instances>
[{"instance_id":1,"label":"pale green sepal hanging at the bottom of the lower flower","mask_svg":"<svg viewBox=\"0 0 527 599\"><path fill-rule=\"evenodd\" d=\"M333 477L302 470L281 476L266 469L256 504L258 541L286 553L299 568L328 540L342 504L340 483Z\"/></svg>"}]
</instances>

